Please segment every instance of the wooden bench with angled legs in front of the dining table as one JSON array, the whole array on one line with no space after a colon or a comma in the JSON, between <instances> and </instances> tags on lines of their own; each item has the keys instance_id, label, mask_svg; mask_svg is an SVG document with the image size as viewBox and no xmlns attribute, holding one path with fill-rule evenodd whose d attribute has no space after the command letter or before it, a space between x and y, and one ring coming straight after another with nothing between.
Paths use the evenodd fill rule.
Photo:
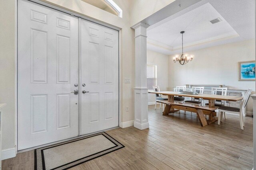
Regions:
<instances>
[{"instance_id":1,"label":"wooden bench with angled legs in front of the dining table","mask_svg":"<svg viewBox=\"0 0 256 170\"><path fill-rule=\"evenodd\" d=\"M216 116L215 107L198 106L198 105L184 104L184 103L178 103L178 102L168 102L167 100L158 101L158 102L162 104L166 104L163 115L168 115L169 113L174 113L178 110L191 111L197 114L200 124L202 126L206 126L218 120L213 117L213 116ZM170 109L174 109L174 110L170 111ZM178 109L178 110L175 110L175 109ZM206 120L204 115L209 115L209 119Z\"/></svg>"}]
</instances>

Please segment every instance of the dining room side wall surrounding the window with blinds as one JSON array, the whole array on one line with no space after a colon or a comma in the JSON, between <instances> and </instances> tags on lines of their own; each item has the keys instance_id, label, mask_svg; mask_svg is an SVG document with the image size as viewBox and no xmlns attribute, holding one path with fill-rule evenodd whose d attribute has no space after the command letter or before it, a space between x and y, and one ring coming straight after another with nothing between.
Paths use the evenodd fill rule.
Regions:
<instances>
[{"instance_id":1,"label":"dining room side wall surrounding the window with blinds","mask_svg":"<svg viewBox=\"0 0 256 170\"><path fill-rule=\"evenodd\" d=\"M147 50L147 64L157 65L157 85L161 91L168 89L168 55ZM162 96L167 98L167 96ZM156 100L155 94L148 94L148 103L153 104Z\"/></svg>"}]
</instances>

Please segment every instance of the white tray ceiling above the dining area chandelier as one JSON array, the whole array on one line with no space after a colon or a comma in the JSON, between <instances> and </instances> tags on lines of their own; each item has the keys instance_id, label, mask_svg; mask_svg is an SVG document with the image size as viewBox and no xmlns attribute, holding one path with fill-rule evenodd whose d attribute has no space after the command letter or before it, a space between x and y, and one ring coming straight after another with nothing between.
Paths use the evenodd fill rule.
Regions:
<instances>
[{"instance_id":1,"label":"white tray ceiling above the dining area chandelier","mask_svg":"<svg viewBox=\"0 0 256 170\"><path fill-rule=\"evenodd\" d=\"M243 14L237 18L237 20L231 20L230 23L232 23L232 27L226 18L230 20L230 14L238 13L235 11L235 8L236 6L240 6L240 4L237 3L225 6L227 7L226 12L223 12L224 16L222 16L216 8L220 8L220 11L222 11L223 5L227 4L222 4L221 6L220 3L214 8L210 2L210 0L202 0L197 4L186 8L184 11L180 11L154 25L150 25L147 29L148 49L166 55L181 52L180 31L185 31L183 35L184 51L192 51L214 45L254 38L255 29L252 27L252 23L249 23L252 22L252 20L254 23L254 17L247 17L252 14L252 10L247 10L247 14ZM247 6L245 5L243 8L246 7ZM216 18L220 21L212 24L210 21ZM244 21L243 18L246 19L246 21ZM240 20L243 20L244 22L239 23ZM246 27L246 25L241 24L247 23L247 29L249 28L250 31L252 31L251 35L248 33L241 33L241 27Z\"/></svg>"}]
</instances>

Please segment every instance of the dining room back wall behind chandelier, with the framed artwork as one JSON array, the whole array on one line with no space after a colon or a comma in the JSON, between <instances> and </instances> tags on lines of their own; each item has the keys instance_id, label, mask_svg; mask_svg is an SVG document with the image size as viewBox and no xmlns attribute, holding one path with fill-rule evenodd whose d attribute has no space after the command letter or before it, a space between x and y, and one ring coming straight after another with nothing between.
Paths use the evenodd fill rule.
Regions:
<instances>
[{"instance_id":1,"label":"dining room back wall behind chandelier, with the framed artwork","mask_svg":"<svg viewBox=\"0 0 256 170\"><path fill-rule=\"evenodd\" d=\"M173 62L174 55L169 57L169 90L184 84L225 84L228 89L255 90L254 81L238 81L238 62L255 60L254 39L184 51L194 55L194 60L182 66ZM252 99L247 111L252 112Z\"/></svg>"}]
</instances>

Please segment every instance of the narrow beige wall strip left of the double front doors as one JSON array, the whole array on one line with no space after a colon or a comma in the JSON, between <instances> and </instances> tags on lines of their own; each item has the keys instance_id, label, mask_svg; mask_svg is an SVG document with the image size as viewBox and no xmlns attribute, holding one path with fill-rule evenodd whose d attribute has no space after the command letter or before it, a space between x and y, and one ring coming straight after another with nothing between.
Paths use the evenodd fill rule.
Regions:
<instances>
[{"instance_id":1,"label":"narrow beige wall strip left of the double front doors","mask_svg":"<svg viewBox=\"0 0 256 170\"><path fill-rule=\"evenodd\" d=\"M15 146L15 0L0 1L0 103L3 149Z\"/></svg>"}]
</instances>

